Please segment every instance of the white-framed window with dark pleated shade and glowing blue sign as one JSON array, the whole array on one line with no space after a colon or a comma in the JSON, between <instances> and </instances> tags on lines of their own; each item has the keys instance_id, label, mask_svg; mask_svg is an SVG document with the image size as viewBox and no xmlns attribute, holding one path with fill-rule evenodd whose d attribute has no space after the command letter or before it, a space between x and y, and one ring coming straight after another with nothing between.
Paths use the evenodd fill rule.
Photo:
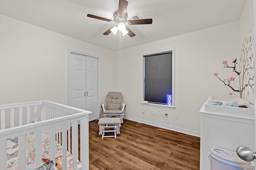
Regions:
<instances>
[{"instance_id":1,"label":"white-framed window with dark pleated shade and glowing blue sign","mask_svg":"<svg viewBox=\"0 0 256 170\"><path fill-rule=\"evenodd\" d=\"M174 49L143 55L143 100L174 107Z\"/></svg>"}]
</instances>

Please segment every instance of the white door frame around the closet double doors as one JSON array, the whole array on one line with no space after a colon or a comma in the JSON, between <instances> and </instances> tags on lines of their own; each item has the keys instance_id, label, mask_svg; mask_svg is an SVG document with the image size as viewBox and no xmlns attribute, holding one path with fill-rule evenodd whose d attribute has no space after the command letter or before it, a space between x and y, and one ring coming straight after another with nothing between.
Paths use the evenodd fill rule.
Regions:
<instances>
[{"instance_id":1,"label":"white door frame around the closet double doors","mask_svg":"<svg viewBox=\"0 0 256 170\"><path fill-rule=\"evenodd\" d=\"M72 49L68 49L68 106L70 106L70 80L71 80L71 75L69 72L70 69L70 54L71 53L75 53L77 55L83 55L83 56L87 56L87 57L93 57L95 59L98 59L98 98L97 98L97 102L98 102L98 106L96 107L96 114L98 115L98 119L100 117L100 57L95 56L95 55L91 55L91 54L87 54L87 53L83 53L80 51L76 51L76 50L72 50Z\"/></svg>"}]
</instances>

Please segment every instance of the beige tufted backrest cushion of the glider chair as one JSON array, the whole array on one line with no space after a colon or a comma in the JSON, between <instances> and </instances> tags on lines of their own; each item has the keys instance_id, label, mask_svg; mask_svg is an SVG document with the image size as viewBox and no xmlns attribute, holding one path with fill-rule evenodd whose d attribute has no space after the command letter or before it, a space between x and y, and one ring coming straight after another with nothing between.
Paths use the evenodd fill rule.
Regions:
<instances>
[{"instance_id":1,"label":"beige tufted backrest cushion of the glider chair","mask_svg":"<svg viewBox=\"0 0 256 170\"><path fill-rule=\"evenodd\" d=\"M118 91L110 91L106 94L107 110L121 109L121 103L124 101L123 95Z\"/></svg>"}]
</instances>

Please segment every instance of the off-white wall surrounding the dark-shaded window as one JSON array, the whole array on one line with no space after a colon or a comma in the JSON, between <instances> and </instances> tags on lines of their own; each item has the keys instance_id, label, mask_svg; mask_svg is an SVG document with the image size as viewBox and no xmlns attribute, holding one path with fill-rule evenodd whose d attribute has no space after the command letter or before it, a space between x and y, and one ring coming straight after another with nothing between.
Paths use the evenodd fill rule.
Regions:
<instances>
[{"instance_id":1,"label":"off-white wall surrounding the dark-shaded window","mask_svg":"<svg viewBox=\"0 0 256 170\"><path fill-rule=\"evenodd\" d=\"M240 49L237 48L238 34L239 22L235 21L117 51L118 71L115 84L116 89L124 94L126 116L130 119L142 119L141 55L175 47L176 109L143 107L146 109L143 120L165 125L163 114L168 112L168 125L199 133L199 110L207 97L230 97L229 91L227 92L229 89L214 73L223 69L224 59L229 61L240 55ZM157 115L151 115L151 110L156 110ZM175 114L179 114L179 119L175 119Z\"/></svg>"}]
</instances>

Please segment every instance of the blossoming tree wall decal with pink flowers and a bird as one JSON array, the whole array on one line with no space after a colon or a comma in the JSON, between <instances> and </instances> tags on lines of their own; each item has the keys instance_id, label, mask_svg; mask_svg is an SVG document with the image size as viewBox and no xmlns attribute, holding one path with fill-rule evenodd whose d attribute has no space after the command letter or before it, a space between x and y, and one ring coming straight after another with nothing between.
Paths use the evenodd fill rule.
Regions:
<instances>
[{"instance_id":1,"label":"blossoming tree wall decal with pink flowers and a bird","mask_svg":"<svg viewBox=\"0 0 256 170\"><path fill-rule=\"evenodd\" d=\"M252 42L254 38L252 39L244 39L244 42L242 43L242 51L240 55L239 61L237 59L234 59L232 61L231 65L228 65L227 61L223 61L222 64L225 66L223 68L231 68L232 72L235 73L235 75L239 78L239 87L235 88L233 84L231 84L232 81L235 82L235 77L230 77L227 79L221 79L218 76L218 73L214 73L214 76L216 76L220 81L224 83L225 86L228 86L231 88L234 92L239 92L240 98L244 98L245 90L247 88L252 89L252 94L254 94L254 59L253 59L253 52L252 52ZM239 65L238 65L239 63ZM234 66L232 66L234 64ZM239 66L239 68L236 68L236 66ZM229 93L232 95L232 92ZM247 95L249 96L250 92L247 91Z\"/></svg>"}]
</instances>

